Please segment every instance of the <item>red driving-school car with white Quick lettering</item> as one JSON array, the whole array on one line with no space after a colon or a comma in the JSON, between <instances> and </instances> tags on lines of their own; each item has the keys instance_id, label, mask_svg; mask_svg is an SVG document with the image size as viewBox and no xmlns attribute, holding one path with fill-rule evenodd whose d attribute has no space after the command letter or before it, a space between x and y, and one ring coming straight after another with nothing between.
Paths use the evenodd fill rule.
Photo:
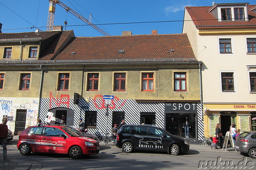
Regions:
<instances>
[{"instance_id":1,"label":"red driving-school car with white Quick lettering","mask_svg":"<svg viewBox=\"0 0 256 170\"><path fill-rule=\"evenodd\" d=\"M31 152L64 153L72 159L100 152L100 144L91 138L82 137L65 126L30 126L19 136L17 148L22 155Z\"/></svg>"}]
</instances>

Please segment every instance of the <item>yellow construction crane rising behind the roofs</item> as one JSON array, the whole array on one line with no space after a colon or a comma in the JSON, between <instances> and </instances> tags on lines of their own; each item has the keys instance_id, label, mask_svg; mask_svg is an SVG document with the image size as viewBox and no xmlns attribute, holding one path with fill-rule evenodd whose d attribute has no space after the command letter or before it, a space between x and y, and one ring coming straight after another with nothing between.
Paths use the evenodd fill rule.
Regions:
<instances>
[{"instance_id":1,"label":"yellow construction crane rising behind the roofs","mask_svg":"<svg viewBox=\"0 0 256 170\"><path fill-rule=\"evenodd\" d=\"M70 12L71 14L75 15L77 18L81 19L86 24L88 24L89 26L93 27L94 29L96 29L100 33L102 33L102 34L104 34L106 36L110 36L108 33L106 33L105 31L103 31L99 27L97 27L94 24L92 24L91 22L89 22L88 19L84 18L82 15L78 14L76 11L72 10L71 8L69 8L67 5L63 4L59 0L49 0L49 2L50 2L50 6L49 6L48 22L47 22L47 29L46 29L46 31L52 31L52 29L53 29L54 16L55 16L55 8L56 8L56 4L58 4L62 8L64 8L67 12Z\"/></svg>"}]
</instances>

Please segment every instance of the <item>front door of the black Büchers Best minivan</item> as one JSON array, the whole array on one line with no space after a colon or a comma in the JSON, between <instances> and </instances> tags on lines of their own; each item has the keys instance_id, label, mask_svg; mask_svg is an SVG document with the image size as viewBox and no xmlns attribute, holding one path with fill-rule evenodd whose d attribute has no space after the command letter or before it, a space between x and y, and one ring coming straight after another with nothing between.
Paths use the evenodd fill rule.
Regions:
<instances>
[{"instance_id":1,"label":"front door of the black B\u00fcchers Best minivan","mask_svg":"<svg viewBox=\"0 0 256 170\"><path fill-rule=\"evenodd\" d=\"M165 151L168 149L168 139L170 137L167 133L163 130L156 128L156 127L148 127L149 131L149 141L153 145L154 150L157 151Z\"/></svg>"}]
</instances>

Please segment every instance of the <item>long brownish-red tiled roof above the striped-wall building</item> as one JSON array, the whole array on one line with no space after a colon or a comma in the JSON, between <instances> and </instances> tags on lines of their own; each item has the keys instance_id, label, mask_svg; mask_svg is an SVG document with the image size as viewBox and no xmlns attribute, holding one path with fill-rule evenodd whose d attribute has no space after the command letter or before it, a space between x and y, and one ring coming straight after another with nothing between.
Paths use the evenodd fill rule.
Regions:
<instances>
[{"instance_id":1,"label":"long brownish-red tiled roof above the striped-wall building","mask_svg":"<svg viewBox=\"0 0 256 170\"><path fill-rule=\"evenodd\" d=\"M170 52L173 49L174 52ZM124 53L118 53L124 50ZM76 52L75 54L71 54ZM195 58L188 36L156 34L73 37L54 60Z\"/></svg>"}]
</instances>

